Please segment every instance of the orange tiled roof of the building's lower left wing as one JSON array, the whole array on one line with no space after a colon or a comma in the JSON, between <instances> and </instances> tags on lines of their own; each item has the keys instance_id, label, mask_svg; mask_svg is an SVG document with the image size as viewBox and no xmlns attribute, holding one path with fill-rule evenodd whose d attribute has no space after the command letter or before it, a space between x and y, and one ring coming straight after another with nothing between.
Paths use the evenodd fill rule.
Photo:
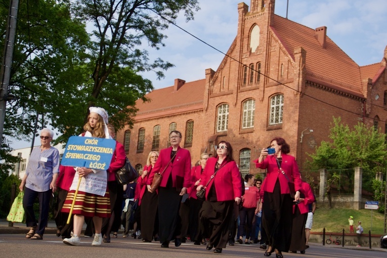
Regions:
<instances>
[{"instance_id":1,"label":"orange tiled roof of the building's lower left wing","mask_svg":"<svg viewBox=\"0 0 387 258\"><path fill-rule=\"evenodd\" d=\"M146 95L149 102L136 101L139 109L136 120L203 108L205 79L184 83L179 90L174 86L154 90Z\"/></svg>"}]
</instances>

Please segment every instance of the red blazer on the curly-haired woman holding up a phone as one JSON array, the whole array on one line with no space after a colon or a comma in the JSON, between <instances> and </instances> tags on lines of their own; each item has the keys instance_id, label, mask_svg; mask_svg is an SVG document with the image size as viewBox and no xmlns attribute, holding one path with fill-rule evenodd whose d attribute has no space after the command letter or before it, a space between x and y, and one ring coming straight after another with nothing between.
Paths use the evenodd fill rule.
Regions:
<instances>
[{"instance_id":1,"label":"red blazer on the curly-haired woman holding up a phone","mask_svg":"<svg viewBox=\"0 0 387 258\"><path fill-rule=\"evenodd\" d=\"M274 155L267 156L262 163L258 162L258 159L253 161L256 167L261 169L267 169L268 174L266 176L266 183L262 185L261 189L266 192L272 193L276 184L277 178L281 186L281 194L290 193L289 185L286 177L278 169L277 161ZM282 154L281 168L285 171L285 174L289 180L294 183L294 190L300 191L301 179L298 171L298 165L293 156Z\"/></svg>"}]
</instances>

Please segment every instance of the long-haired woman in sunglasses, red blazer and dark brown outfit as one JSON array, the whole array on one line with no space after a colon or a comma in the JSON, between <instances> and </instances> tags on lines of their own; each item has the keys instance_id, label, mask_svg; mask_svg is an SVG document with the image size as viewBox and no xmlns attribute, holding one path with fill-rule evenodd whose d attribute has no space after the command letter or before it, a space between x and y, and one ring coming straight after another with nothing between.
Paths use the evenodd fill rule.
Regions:
<instances>
[{"instance_id":1,"label":"long-haired woman in sunglasses, red blazer and dark brown outfit","mask_svg":"<svg viewBox=\"0 0 387 258\"><path fill-rule=\"evenodd\" d=\"M215 247L213 252L221 253L228 242L234 202L239 204L242 198L240 171L229 142L221 141L216 156L207 160L196 191L206 185L205 201L199 212L200 222L204 235L210 236L206 249Z\"/></svg>"}]
</instances>

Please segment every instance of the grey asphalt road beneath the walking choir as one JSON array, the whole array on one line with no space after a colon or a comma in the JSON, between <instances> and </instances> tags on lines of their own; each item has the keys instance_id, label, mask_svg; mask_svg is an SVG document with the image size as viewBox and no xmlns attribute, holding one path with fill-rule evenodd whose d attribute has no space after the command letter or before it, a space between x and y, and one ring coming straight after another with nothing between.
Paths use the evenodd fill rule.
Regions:
<instances>
[{"instance_id":1,"label":"grey asphalt road beneath the walking choir","mask_svg":"<svg viewBox=\"0 0 387 258\"><path fill-rule=\"evenodd\" d=\"M120 235L122 236L122 235ZM265 257L264 250L257 244L227 246L222 254L207 251L204 245L194 245L192 242L183 243L175 247L161 248L159 243L143 243L141 239L112 238L111 243L103 243L102 246L91 246L93 239L81 237L80 246L65 245L61 238L53 234L46 234L44 240L25 239L21 234L0 234L0 250L2 257ZM340 257L340 258L364 258L386 257L387 249L369 249L366 247L322 246L312 244L306 254L283 253L284 257ZM275 257L273 253L271 257Z\"/></svg>"}]
</instances>

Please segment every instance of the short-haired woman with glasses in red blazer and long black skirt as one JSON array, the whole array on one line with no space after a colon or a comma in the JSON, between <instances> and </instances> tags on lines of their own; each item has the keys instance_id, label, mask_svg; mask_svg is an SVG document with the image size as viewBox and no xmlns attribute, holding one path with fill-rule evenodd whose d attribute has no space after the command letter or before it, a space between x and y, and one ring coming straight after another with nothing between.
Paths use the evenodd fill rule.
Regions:
<instances>
[{"instance_id":1,"label":"short-haired woman with glasses in red blazer and long black skirt","mask_svg":"<svg viewBox=\"0 0 387 258\"><path fill-rule=\"evenodd\" d=\"M174 238L176 247L182 244L179 210L182 196L191 186L191 154L189 150L180 148L181 141L179 131L169 133L170 147L160 151L147 182L148 191L152 192L154 174L163 173L158 188L158 234L164 248L168 248Z\"/></svg>"}]
</instances>

